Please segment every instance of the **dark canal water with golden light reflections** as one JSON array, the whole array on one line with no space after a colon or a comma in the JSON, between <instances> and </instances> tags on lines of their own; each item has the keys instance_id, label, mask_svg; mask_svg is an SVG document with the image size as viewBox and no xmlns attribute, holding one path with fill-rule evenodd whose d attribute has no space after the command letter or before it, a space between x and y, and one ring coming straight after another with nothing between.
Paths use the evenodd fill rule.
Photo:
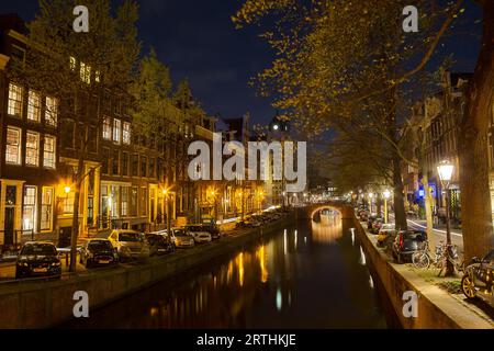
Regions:
<instances>
[{"instance_id":1,"label":"dark canal water with golden light reflections","mask_svg":"<svg viewBox=\"0 0 494 351\"><path fill-rule=\"evenodd\" d=\"M299 222L61 328L386 328L374 285L345 222Z\"/></svg>"}]
</instances>

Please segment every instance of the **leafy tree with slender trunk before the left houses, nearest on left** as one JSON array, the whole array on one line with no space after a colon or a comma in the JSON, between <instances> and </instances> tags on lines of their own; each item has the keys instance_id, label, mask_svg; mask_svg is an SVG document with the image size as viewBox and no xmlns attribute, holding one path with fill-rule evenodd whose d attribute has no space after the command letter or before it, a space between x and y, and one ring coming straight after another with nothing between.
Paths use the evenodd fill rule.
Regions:
<instances>
[{"instance_id":1,"label":"leafy tree with slender trunk before the left houses, nearest on left","mask_svg":"<svg viewBox=\"0 0 494 351\"><path fill-rule=\"evenodd\" d=\"M89 33L76 33L72 14L76 5L89 10ZM125 1L112 15L110 0L40 0L40 12L29 23L30 48L24 65L12 67L11 78L23 81L42 94L56 97L52 115L59 124L75 120L77 170L75 192L70 271L76 271L79 235L79 197L85 177L85 160L91 138L90 126L100 126L102 99L98 106L88 97L102 97L104 90L125 94L133 79L139 53L136 39L137 4ZM86 106L96 111L86 111ZM47 106L49 109L49 106ZM76 111L76 113L74 113Z\"/></svg>"}]
</instances>

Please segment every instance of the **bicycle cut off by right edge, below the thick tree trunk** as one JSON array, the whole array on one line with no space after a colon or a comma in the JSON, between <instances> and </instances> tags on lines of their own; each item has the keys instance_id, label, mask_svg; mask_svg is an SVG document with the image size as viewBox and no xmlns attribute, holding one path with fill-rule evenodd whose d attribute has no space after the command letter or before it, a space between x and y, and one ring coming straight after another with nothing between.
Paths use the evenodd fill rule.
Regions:
<instances>
[{"instance_id":1,"label":"bicycle cut off by right edge, below the thick tree trunk","mask_svg":"<svg viewBox=\"0 0 494 351\"><path fill-rule=\"evenodd\" d=\"M483 259L473 258L461 279L461 290L469 299L479 297L494 307L494 250Z\"/></svg>"}]
</instances>

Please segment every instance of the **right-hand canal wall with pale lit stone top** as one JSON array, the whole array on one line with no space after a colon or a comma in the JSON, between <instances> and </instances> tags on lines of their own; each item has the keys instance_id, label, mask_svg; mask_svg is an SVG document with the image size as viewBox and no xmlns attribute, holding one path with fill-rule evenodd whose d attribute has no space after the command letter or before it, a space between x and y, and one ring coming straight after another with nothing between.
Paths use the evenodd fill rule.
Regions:
<instances>
[{"instance_id":1,"label":"right-hand canal wall with pale lit stone top","mask_svg":"<svg viewBox=\"0 0 494 351\"><path fill-rule=\"evenodd\" d=\"M348 208L347 211L348 212ZM463 302L426 281L406 264L396 264L378 248L375 237L367 233L353 215L355 229L362 249L380 280L389 302L405 329L492 329L494 326L470 309ZM417 317L405 317L403 308L409 301L405 292L415 292Z\"/></svg>"}]
</instances>

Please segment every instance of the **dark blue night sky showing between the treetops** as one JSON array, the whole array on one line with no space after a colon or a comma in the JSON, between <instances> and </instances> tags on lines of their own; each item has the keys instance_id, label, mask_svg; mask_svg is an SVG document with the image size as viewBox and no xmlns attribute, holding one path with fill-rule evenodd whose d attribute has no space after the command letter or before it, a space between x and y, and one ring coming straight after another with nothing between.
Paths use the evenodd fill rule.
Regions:
<instances>
[{"instance_id":1,"label":"dark blue night sky showing between the treetops","mask_svg":"<svg viewBox=\"0 0 494 351\"><path fill-rule=\"evenodd\" d=\"M114 3L120 3L115 0ZM256 97L250 77L273 57L258 37L256 26L235 30L231 16L242 0L141 0L139 38L143 53L154 46L170 67L173 82L188 78L192 93L211 115L238 117L250 112L255 123L269 123L274 115L269 100ZM37 11L37 0L2 0L0 13L16 12L26 21ZM472 70L479 53L479 11L468 1L465 25L454 37L442 41L440 52L456 54L454 69ZM429 67L439 59L433 60Z\"/></svg>"}]
</instances>

